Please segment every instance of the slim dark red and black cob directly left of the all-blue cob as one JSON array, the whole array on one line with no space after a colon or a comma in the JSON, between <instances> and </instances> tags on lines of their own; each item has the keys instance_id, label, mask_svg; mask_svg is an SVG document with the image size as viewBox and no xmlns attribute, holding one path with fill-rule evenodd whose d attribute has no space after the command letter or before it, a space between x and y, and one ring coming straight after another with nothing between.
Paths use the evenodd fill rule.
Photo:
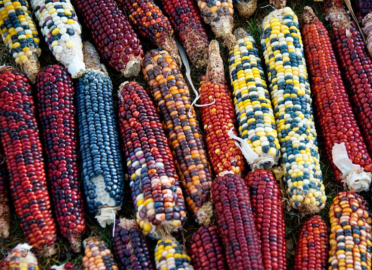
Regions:
<instances>
[{"instance_id":1,"label":"slim dark red and black cob directly left of the all-blue cob","mask_svg":"<svg viewBox=\"0 0 372 270\"><path fill-rule=\"evenodd\" d=\"M58 227L62 236L70 241L73 250L80 252L85 218L77 167L71 76L63 66L46 66L36 77L36 91Z\"/></svg>"}]
</instances>

